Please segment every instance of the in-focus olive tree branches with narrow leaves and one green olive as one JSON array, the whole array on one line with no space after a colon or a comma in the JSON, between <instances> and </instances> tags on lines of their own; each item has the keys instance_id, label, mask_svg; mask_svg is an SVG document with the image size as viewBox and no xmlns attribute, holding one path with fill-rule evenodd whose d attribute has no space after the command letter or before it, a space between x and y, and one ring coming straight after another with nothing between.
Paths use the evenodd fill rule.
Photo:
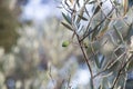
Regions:
<instances>
[{"instance_id":1,"label":"in-focus olive tree branches with narrow leaves and one green olive","mask_svg":"<svg viewBox=\"0 0 133 89\"><path fill-rule=\"evenodd\" d=\"M63 41L62 47L75 43L81 49L91 76L89 89L133 88L132 3L132 0L61 2L64 18L61 23L72 32L71 40Z\"/></svg>"}]
</instances>

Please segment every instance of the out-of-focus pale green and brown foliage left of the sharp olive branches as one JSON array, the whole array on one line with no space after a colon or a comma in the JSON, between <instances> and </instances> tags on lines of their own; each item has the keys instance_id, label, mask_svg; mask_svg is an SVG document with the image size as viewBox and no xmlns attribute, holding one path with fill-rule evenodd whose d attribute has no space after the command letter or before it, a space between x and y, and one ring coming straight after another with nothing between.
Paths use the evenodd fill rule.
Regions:
<instances>
[{"instance_id":1,"label":"out-of-focus pale green and brown foliage left of the sharp olive branches","mask_svg":"<svg viewBox=\"0 0 133 89\"><path fill-rule=\"evenodd\" d=\"M82 56L71 46L62 48L71 32L60 24L61 18L21 18L29 1L0 0L0 89L61 89Z\"/></svg>"}]
</instances>

